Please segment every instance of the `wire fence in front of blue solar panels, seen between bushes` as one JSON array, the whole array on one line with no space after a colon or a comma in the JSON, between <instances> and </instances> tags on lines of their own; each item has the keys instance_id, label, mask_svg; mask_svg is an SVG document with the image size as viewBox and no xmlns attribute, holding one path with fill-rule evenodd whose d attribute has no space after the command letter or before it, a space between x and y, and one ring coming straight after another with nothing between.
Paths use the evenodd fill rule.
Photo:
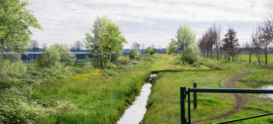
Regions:
<instances>
[{"instance_id":1,"label":"wire fence in front of blue solar panels, seen between bushes","mask_svg":"<svg viewBox=\"0 0 273 124\"><path fill-rule=\"evenodd\" d=\"M18 55L19 61L21 64L33 64L36 63L36 61L41 58L43 52L25 52L25 53L19 53L15 54L14 52L4 52L3 58L9 57L8 59L13 59L10 54L12 55ZM140 54L147 54L148 52L140 52ZM157 53L166 53L166 51L160 51ZM73 59L75 59L75 63L87 63L92 62L93 55L90 52L70 52L70 54L73 55ZM122 52L120 56L129 56L130 52Z\"/></svg>"}]
</instances>

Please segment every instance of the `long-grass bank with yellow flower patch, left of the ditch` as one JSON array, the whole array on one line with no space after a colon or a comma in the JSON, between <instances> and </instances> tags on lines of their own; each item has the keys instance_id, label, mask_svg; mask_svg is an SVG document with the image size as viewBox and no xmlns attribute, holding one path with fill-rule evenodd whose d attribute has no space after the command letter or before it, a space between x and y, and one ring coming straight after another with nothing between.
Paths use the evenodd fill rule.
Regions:
<instances>
[{"instance_id":1,"label":"long-grass bank with yellow flower patch, left of the ditch","mask_svg":"<svg viewBox=\"0 0 273 124\"><path fill-rule=\"evenodd\" d=\"M49 116L41 123L114 123L133 102L152 71L182 68L167 63L174 56L159 56L153 62L118 69L118 75L108 78L103 78L99 71L90 70L85 75L40 85L35 89L39 91L37 97L52 102L67 100L77 107Z\"/></svg>"}]
</instances>

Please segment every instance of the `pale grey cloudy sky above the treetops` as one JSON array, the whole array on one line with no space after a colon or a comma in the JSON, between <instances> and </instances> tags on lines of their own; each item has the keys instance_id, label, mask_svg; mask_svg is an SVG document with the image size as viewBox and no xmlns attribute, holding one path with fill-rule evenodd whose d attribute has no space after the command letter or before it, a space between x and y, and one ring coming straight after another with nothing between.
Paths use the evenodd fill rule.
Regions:
<instances>
[{"instance_id":1,"label":"pale grey cloudy sky above the treetops","mask_svg":"<svg viewBox=\"0 0 273 124\"><path fill-rule=\"evenodd\" d=\"M195 0L195 1L149 1L149 0L29 0L35 17L43 31L31 29L32 39L52 45L73 44L90 33L97 15L106 14L119 24L130 48L134 42L146 46L154 43L167 46L179 25L187 24L197 38L213 22L235 27L239 42L249 39L252 26L261 21L261 13L272 9L272 0Z\"/></svg>"}]
</instances>

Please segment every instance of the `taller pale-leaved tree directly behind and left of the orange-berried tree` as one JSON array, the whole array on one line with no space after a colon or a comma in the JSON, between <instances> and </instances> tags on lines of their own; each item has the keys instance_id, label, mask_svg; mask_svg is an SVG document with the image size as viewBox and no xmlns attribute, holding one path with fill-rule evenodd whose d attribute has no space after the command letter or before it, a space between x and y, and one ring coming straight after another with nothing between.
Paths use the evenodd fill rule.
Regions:
<instances>
[{"instance_id":1,"label":"taller pale-leaved tree directly behind and left of the orange-berried tree","mask_svg":"<svg viewBox=\"0 0 273 124\"><path fill-rule=\"evenodd\" d=\"M101 36L103 33L105 33L106 25L112 23L111 19L108 19L106 15L103 15L102 17L97 16L96 21L93 24L93 28L90 29L91 33L85 33L85 40L83 42L85 43L86 49L89 50L93 54L93 61L94 64L99 63L102 68L105 68L107 56L106 53L102 52L99 46L101 45ZM98 57L97 57L98 56Z\"/></svg>"}]
</instances>

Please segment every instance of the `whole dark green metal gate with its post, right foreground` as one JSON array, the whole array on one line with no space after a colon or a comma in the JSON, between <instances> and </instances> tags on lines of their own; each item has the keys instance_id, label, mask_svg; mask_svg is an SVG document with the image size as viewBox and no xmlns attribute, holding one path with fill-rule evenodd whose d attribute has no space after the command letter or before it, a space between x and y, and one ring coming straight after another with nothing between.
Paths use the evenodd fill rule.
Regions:
<instances>
[{"instance_id":1,"label":"whole dark green metal gate with its post, right foreground","mask_svg":"<svg viewBox=\"0 0 273 124\"><path fill-rule=\"evenodd\" d=\"M190 124L190 92L194 93L251 93L251 94L273 94L273 90L267 89L226 89L226 88L188 88L186 91L186 87L180 87L180 113L181 113L181 124ZM185 99L188 95L188 121L185 118ZM246 119L252 119L262 116L273 115L273 113L267 113L257 116L251 116L241 119L235 119L225 122L219 122L217 124L225 124L231 122L237 122Z\"/></svg>"}]
</instances>

